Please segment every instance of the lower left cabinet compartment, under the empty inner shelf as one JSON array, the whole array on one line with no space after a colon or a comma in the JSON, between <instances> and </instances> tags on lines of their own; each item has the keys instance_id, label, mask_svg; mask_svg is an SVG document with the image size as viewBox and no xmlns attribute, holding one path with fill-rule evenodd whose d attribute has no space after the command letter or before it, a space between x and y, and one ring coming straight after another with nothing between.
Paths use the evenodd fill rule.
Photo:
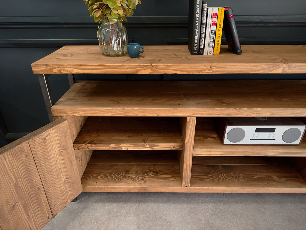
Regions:
<instances>
[{"instance_id":1,"label":"lower left cabinet compartment, under the empty inner shelf","mask_svg":"<svg viewBox=\"0 0 306 230\"><path fill-rule=\"evenodd\" d=\"M176 150L94 151L83 192L170 192L181 187Z\"/></svg>"}]
</instances>

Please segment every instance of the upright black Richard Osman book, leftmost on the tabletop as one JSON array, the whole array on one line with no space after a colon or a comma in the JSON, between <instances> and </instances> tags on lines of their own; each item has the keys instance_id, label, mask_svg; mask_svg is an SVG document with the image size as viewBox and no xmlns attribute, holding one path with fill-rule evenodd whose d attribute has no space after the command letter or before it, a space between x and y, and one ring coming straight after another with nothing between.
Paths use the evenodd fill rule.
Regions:
<instances>
[{"instance_id":1,"label":"upright black Richard Osman book, leftmost on the tabletop","mask_svg":"<svg viewBox=\"0 0 306 230\"><path fill-rule=\"evenodd\" d=\"M199 54L202 0L189 0L188 49L190 54Z\"/></svg>"}]
</instances>

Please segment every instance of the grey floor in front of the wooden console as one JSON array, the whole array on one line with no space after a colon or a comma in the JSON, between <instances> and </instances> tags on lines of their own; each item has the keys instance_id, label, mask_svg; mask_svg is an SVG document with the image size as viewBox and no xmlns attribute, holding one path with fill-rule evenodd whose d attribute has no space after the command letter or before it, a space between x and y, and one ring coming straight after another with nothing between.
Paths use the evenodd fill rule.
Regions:
<instances>
[{"instance_id":1,"label":"grey floor in front of the wooden console","mask_svg":"<svg viewBox=\"0 0 306 230\"><path fill-rule=\"evenodd\" d=\"M43 230L304 230L305 194L82 193Z\"/></svg>"}]
</instances>

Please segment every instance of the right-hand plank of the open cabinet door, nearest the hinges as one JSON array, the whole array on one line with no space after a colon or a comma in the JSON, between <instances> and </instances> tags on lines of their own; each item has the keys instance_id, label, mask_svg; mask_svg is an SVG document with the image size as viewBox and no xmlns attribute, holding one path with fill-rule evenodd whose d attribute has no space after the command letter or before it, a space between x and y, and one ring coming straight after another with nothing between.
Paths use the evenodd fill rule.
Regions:
<instances>
[{"instance_id":1,"label":"right-hand plank of the open cabinet door, nearest the hinges","mask_svg":"<svg viewBox=\"0 0 306 230\"><path fill-rule=\"evenodd\" d=\"M24 137L28 140L53 216L82 192L68 121L61 118Z\"/></svg>"}]
</instances>

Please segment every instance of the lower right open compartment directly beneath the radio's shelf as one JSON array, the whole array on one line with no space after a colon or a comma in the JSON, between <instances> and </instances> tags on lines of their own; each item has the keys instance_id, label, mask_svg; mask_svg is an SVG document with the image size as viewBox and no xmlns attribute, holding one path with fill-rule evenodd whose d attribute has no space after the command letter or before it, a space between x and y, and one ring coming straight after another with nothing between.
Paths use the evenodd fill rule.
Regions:
<instances>
[{"instance_id":1,"label":"lower right open compartment directly beneath the radio's shelf","mask_svg":"<svg viewBox=\"0 0 306 230\"><path fill-rule=\"evenodd\" d=\"M299 157L194 156L190 189L202 192L305 193Z\"/></svg>"}]
</instances>

